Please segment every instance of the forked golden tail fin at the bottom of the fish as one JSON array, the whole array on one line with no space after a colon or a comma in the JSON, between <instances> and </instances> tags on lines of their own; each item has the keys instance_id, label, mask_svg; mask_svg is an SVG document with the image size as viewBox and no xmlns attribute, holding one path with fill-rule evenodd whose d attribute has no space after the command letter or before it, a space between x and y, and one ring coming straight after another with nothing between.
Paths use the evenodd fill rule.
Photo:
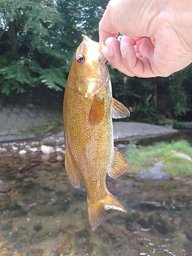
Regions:
<instances>
[{"instance_id":1,"label":"forked golden tail fin at the bottom of the fish","mask_svg":"<svg viewBox=\"0 0 192 256\"><path fill-rule=\"evenodd\" d=\"M88 218L89 224L93 231L101 224L105 210L119 210L126 212L125 207L110 192L100 201L88 201Z\"/></svg>"}]
</instances>

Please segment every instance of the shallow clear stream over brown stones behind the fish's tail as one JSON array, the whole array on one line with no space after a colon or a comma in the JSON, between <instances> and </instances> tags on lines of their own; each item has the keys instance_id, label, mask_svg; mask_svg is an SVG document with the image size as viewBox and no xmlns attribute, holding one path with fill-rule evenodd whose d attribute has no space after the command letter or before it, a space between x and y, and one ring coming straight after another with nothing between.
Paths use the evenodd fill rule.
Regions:
<instances>
[{"instance_id":1,"label":"shallow clear stream over brown stones behind the fish's tail","mask_svg":"<svg viewBox=\"0 0 192 256\"><path fill-rule=\"evenodd\" d=\"M63 156L60 162L56 152L20 156L24 145L15 146L6 144L0 154L0 255L192 255L191 178L107 177L127 212L106 211L93 232L86 190L72 187Z\"/></svg>"}]
</instances>

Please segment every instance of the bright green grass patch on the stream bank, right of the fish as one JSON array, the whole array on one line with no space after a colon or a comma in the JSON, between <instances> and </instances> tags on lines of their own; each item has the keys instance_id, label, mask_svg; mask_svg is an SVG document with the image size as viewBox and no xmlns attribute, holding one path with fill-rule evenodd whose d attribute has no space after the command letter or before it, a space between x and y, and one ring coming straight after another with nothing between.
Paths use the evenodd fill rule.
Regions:
<instances>
[{"instance_id":1,"label":"bright green grass patch on the stream bank, right of the fish","mask_svg":"<svg viewBox=\"0 0 192 256\"><path fill-rule=\"evenodd\" d=\"M154 145L130 147L125 158L130 163L129 172L138 174L140 170L148 170L155 162L164 163L164 172L170 177L192 176L192 161L175 156L176 152L187 154L192 158L192 147L185 140L173 141L171 143L158 142Z\"/></svg>"}]
</instances>

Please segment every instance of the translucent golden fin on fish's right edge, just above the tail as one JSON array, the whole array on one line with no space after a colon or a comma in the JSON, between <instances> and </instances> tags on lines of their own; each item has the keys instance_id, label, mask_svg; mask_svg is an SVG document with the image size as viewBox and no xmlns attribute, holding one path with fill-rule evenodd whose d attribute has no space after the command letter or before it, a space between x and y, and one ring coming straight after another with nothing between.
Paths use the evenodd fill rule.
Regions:
<instances>
[{"instance_id":1,"label":"translucent golden fin on fish's right edge, just above the tail","mask_svg":"<svg viewBox=\"0 0 192 256\"><path fill-rule=\"evenodd\" d=\"M116 147L114 147L114 158L112 165L108 171L108 175L113 179L117 179L119 176L124 174L127 169L129 169L130 165L127 163L124 156L118 151Z\"/></svg>"}]
</instances>

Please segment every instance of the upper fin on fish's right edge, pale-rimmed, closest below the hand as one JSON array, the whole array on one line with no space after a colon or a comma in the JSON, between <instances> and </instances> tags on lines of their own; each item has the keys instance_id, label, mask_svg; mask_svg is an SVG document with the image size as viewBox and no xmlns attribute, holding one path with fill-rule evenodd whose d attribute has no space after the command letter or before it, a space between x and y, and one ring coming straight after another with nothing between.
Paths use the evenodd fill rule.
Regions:
<instances>
[{"instance_id":1,"label":"upper fin on fish's right edge, pale-rimmed, closest below the hand","mask_svg":"<svg viewBox=\"0 0 192 256\"><path fill-rule=\"evenodd\" d=\"M111 117L114 119L130 116L129 110L118 100L112 98Z\"/></svg>"}]
</instances>

